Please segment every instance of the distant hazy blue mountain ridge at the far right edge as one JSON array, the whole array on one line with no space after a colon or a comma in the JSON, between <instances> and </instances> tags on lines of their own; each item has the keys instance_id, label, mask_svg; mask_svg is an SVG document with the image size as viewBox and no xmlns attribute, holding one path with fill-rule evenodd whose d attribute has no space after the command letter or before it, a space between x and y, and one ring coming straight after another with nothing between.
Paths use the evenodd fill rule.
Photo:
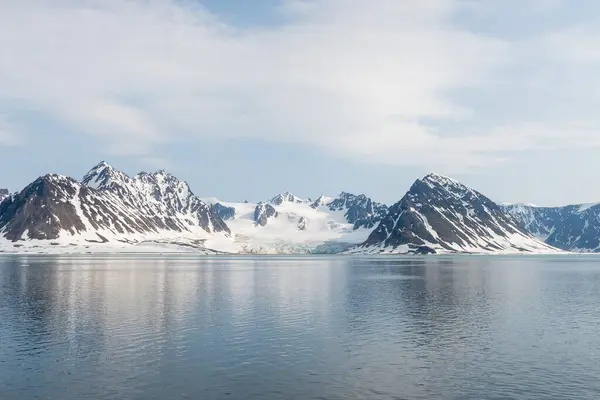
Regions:
<instances>
[{"instance_id":1,"label":"distant hazy blue mountain ridge at the far right edge","mask_svg":"<svg viewBox=\"0 0 600 400\"><path fill-rule=\"evenodd\" d=\"M573 252L600 252L600 204L537 207L508 204L503 209L547 244Z\"/></svg>"}]
</instances>

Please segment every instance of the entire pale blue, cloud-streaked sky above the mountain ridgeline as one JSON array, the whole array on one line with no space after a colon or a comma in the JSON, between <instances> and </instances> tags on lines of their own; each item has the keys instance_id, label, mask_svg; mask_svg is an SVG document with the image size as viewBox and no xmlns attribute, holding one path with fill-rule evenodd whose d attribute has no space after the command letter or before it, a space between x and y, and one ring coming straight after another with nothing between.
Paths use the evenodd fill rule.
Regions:
<instances>
[{"instance_id":1,"label":"entire pale blue, cloud-streaked sky above the mountain ridgeline","mask_svg":"<svg viewBox=\"0 0 600 400\"><path fill-rule=\"evenodd\" d=\"M597 0L3 1L0 52L12 191L105 160L227 201L600 201Z\"/></svg>"}]
</instances>

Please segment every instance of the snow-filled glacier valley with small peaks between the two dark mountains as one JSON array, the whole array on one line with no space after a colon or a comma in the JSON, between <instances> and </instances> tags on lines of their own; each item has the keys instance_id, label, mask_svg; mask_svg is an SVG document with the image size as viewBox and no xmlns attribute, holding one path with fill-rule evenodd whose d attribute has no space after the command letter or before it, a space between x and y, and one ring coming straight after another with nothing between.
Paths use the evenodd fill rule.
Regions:
<instances>
[{"instance_id":1,"label":"snow-filled glacier valley with small peaks between the two dark mountains","mask_svg":"<svg viewBox=\"0 0 600 400\"><path fill-rule=\"evenodd\" d=\"M337 252L364 241L386 206L365 195L341 193L311 202L290 192L259 203L210 199L241 252ZM379 218L379 219L378 219Z\"/></svg>"}]
</instances>

